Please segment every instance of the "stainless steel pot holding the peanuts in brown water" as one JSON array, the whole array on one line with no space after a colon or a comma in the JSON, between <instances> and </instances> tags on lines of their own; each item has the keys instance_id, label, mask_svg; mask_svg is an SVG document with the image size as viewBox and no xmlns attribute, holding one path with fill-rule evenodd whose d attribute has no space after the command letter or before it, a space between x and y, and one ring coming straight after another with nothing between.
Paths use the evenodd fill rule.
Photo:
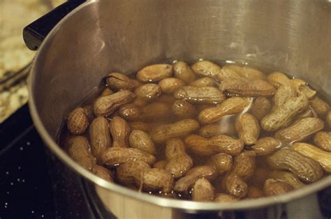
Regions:
<instances>
[{"instance_id":1,"label":"stainless steel pot holding the peanuts in brown water","mask_svg":"<svg viewBox=\"0 0 331 219\"><path fill-rule=\"evenodd\" d=\"M87 1L61 20L39 49L29 83L31 115L47 146L94 183L103 204L119 217L256 209L331 185L328 176L286 195L237 203L165 199L103 181L57 144L64 116L110 71L132 73L150 63L200 58L263 63L331 96L331 1Z\"/></svg>"}]
</instances>

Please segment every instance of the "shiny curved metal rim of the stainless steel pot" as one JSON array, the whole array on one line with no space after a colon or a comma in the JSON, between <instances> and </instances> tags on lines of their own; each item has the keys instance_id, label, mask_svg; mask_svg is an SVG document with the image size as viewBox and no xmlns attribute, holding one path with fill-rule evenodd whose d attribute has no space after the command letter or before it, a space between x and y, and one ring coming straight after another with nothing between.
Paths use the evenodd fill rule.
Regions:
<instances>
[{"instance_id":1,"label":"shiny curved metal rim of the stainless steel pot","mask_svg":"<svg viewBox=\"0 0 331 219\"><path fill-rule=\"evenodd\" d=\"M300 188L297 190L293 190L284 195L272 196L272 197L261 197L258 199L244 199L240 202L232 202L232 203L214 203L214 202L193 202L186 200L178 200L178 199L168 199L165 197L158 197L156 195L149 195L147 193L140 193L135 190L131 190L130 188L126 188L124 186L119 186L115 183L110 183L105 181L98 176L92 174L87 169L84 169L78 163L75 163L67 153L61 149L61 147L57 144L57 142L52 139L49 133L47 133L45 126L41 122L41 119L38 115L38 110L36 107L36 100L34 98L34 79L38 72L36 71L36 63L39 61L39 57L43 56L45 53L45 46L50 43L50 40L57 34L57 31L61 28L62 25L66 24L66 21L69 20L72 16L77 13L78 10L82 10L87 6L90 6L94 3L97 3L98 0L94 1L86 1L82 3L82 5L78 6L68 13L64 19L62 19L50 33L46 36L45 40L41 44L36 57L32 63L31 72L28 79L28 88L29 88L29 110L31 113L32 120L34 121L34 125L36 129L41 135L41 138L46 143L47 147L56 154L56 156L66 165L71 167L75 172L78 172L81 176L84 176L85 179L88 179L92 183L95 183L97 186L101 186L105 189L111 190L112 192L119 193L121 195L125 195L131 197L133 199L138 199L142 202L147 202L150 204L155 204L158 206L169 207L173 209L179 209L186 212L197 212L197 211L226 211L226 210L241 210L241 209L256 209L263 206L268 206L272 204L283 204L286 202L290 202L294 199L299 199L300 197L304 197L310 195L318 190L321 190L327 186L331 185L331 176L326 176L325 178L312 183L309 186L305 186L304 188Z\"/></svg>"}]
</instances>

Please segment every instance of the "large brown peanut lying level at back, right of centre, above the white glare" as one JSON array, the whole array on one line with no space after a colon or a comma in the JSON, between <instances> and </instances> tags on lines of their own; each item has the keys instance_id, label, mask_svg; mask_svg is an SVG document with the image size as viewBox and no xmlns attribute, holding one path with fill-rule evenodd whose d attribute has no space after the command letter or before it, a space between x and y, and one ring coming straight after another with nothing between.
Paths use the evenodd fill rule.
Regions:
<instances>
[{"instance_id":1,"label":"large brown peanut lying level at back, right of centre, above the white glare","mask_svg":"<svg viewBox=\"0 0 331 219\"><path fill-rule=\"evenodd\" d=\"M221 82L219 89L227 96L272 96L276 89L264 80L243 80L228 78Z\"/></svg>"}]
</instances>

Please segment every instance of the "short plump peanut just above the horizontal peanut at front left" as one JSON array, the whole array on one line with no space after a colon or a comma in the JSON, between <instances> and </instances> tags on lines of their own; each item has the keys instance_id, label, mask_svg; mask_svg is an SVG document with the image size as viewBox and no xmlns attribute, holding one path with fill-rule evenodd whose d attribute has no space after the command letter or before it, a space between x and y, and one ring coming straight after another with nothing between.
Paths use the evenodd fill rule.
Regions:
<instances>
[{"instance_id":1,"label":"short plump peanut just above the horizontal peanut at front left","mask_svg":"<svg viewBox=\"0 0 331 219\"><path fill-rule=\"evenodd\" d=\"M152 139L142 130L132 130L128 137L128 143L135 149L140 149L146 153L155 155L156 147Z\"/></svg>"}]
</instances>

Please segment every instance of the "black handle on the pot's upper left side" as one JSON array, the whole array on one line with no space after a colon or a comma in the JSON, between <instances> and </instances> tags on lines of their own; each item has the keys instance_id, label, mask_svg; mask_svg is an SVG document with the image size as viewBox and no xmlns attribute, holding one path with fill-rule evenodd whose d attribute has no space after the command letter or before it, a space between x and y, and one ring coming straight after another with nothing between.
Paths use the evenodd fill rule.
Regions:
<instances>
[{"instance_id":1,"label":"black handle on the pot's upper left side","mask_svg":"<svg viewBox=\"0 0 331 219\"><path fill-rule=\"evenodd\" d=\"M53 27L85 0L66 1L23 29L23 39L30 50L38 50Z\"/></svg>"}]
</instances>

